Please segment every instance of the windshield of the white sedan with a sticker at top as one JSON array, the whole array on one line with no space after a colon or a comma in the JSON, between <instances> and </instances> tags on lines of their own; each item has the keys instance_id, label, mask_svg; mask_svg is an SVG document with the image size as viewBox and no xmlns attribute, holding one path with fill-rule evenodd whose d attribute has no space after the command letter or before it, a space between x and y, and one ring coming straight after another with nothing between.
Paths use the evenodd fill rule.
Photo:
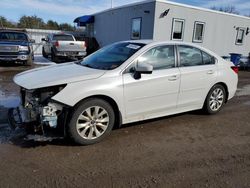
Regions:
<instances>
[{"instance_id":1,"label":"windshield of the white sedan with a sticker at top","mask_svg":"<svg viewBox=\"0 0 250 188\"><path fill-rule=\"evenodd\" d=\"M80 64L95 69L112 70L119 67L143 46L145 44L132 42L112 44L86 57Z\"/></svg>"}]
</instances>

